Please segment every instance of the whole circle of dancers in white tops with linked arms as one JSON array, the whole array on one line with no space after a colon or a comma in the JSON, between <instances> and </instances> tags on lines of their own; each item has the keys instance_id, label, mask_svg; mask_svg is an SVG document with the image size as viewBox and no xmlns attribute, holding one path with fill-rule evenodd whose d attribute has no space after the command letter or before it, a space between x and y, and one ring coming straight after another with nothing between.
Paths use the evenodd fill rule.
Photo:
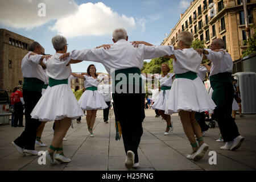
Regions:
<instances>
[{"instance_id":1,"label":"whole circle of dancers in white tops with linked arms","mask_svg":"<svg viewBox=\"0 0 256 182\"><path fill-rule=\"evenodd\" d=\"M80 123L86 111L88 132L90 137L94 137L93 126L97 110L107 109L108 114L113 98L115 139L123 138L125 167L139 167L138 146L143 134L146 96L142 84L145 74L141 73L141 68L144 59L162 56L174 60L174 73L170 73L168 64L162 64L163 74L156 76L160 82L160 93L158 88L154 89L157 94L154 96L152 108L158 113L156 117L161 115L166 121L164 135L174 130L171 115L179 113L184 133L192 147L191 154L186 157L194 161L202 159L209 148L203 138L203 133L208 128L203 129L203 124L197 122L196 117L200 118L200 113L207 111L214 113L225 142L220 148L234 151L241 146L245 138L239 134L231 116L234 100L231 82L233 61L229 53L224 51L222 39L214 39L210 49L193 49L193 35L183 31L177 36L177 47L154 46L142 41L128 42L126 30L118 28L113 31L112 40L112 45L104 44L94 49L68 52L67 39L56 35L52 38L52 46L56 51L54 55L43 55L38 42L30 44L29 52L24 56L21 65L26 126L20 137L12 142L20 154L38 155L35 144L46 147L41 141L41 135L45 123L53 121L54 134L50 146L45 151L46 159L51 164L56 161L71 162L71 159L64 155L63 140L72 125L72 119L77 119L77 123ZM210 68L207 64L200 65L204 59L211 61ZM82 60L104 65L110 75L106 80L112 79L112 98L110 94L107 96L98 90L98 85L105 78L97 75L95 65L89 65L86 73L72 73L71 64L78 64ZM210 72L212 96L209 96L202 82L205 70ZM130 77L131 75L134 77ZM139 76L138 80L136 76ZM72 90L71 77L84 80L85 89ZM105 89L110 90L110 87ZM129 102L124 105L124 100ZM108 122L105 116L104 122Z\"/></svg>"}]
</instances>

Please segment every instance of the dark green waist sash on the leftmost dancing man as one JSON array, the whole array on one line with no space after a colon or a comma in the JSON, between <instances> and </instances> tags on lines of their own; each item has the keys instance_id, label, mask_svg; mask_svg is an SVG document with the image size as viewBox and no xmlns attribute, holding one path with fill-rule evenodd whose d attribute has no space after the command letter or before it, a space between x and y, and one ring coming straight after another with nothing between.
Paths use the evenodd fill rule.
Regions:
<instances>
[{"instance_id":1,"label":"dark green waist sash on the leftmost dancing man","mask_svg":"<svg viewBox=\"0 0 256 182\"><path fill-rule=\"evenodd\" d=\"M44 82L38 78L25 78L22 89L23 90L30 90L35 92L42 92Z\"/></svg>"}]
</instances>

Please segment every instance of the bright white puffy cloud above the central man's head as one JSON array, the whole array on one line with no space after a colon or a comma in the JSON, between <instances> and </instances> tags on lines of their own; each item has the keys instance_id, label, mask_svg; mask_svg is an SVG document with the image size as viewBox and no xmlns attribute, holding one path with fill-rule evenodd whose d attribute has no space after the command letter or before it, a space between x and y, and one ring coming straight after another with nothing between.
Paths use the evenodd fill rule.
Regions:
<instances>
[{"instance_id":1,"label":"bright white puffy cloud above the central man's head","mask_svg":"<svg viewBox=\"0 0 256 182\"><path fill-rule=\"evenodd\" d=\"M102 2L84 3L75 14L57 20L51 30L67 37L112 34L115 28L135 28L133 17L119 15Z\"/></svg>"}]
</instances>

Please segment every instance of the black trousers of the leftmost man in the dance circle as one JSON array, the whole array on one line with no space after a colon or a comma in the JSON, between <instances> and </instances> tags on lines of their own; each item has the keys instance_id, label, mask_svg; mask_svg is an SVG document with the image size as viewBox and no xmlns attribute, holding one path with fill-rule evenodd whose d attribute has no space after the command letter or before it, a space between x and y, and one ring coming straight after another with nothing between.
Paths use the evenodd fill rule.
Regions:
<instances>
[{"instance_id":1,"label":"black trousers of the leftmost man in the dance circle","mask_svg":"<svg viewBox=\"0 0 256 182\"><path fill-rule=\"evenodd\" d=\"M41 96L42 94L40 92L23 90L26 125L25 130L20 137L14 140L14 143L27 150L35 150L36 130L42 122L38 119L32 119L30 113L38 103Z\"/></svg>"}]
</instances>

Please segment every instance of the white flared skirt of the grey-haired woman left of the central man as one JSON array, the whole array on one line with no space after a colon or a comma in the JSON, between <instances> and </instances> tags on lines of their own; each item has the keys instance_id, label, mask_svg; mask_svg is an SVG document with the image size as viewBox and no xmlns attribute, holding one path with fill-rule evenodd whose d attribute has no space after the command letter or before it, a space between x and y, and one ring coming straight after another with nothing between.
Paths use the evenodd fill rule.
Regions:
<instances>
[{"instance_id":1,"label":"white flared skirt of the grey-haired woman left of the central man","mask_svg":"<svg viewBox=\"0 0 256 182\"><path fill-rule=\"evenodd\" d=\"M54 121L64 118L77 119L84 112L77 103L68 84L48 86L31 113L31 117L39 121Z\"/></svg>"}]
</instances>

